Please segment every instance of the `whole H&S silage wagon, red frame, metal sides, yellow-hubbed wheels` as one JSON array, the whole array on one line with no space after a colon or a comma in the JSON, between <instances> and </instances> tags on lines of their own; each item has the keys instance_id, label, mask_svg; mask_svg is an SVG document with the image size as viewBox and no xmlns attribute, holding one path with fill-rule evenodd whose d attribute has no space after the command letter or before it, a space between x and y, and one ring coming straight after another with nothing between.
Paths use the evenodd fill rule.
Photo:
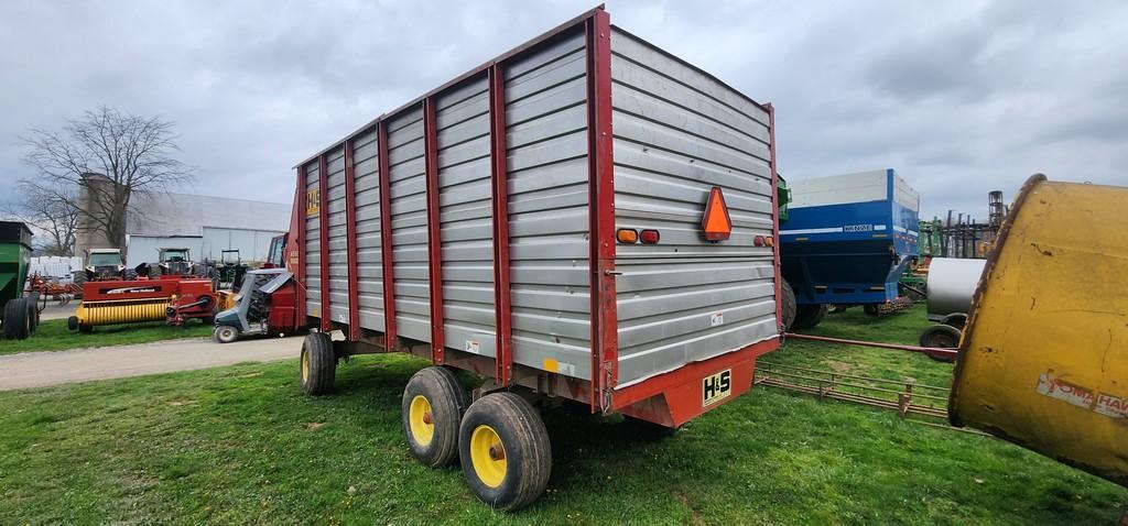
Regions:
<instances>
[{"instance_id":1,"label":"whole H&S silage wagon, red frame, metal sides, yellow-hubbed wheels","mask_svg":"<svg viewBox=\"0 0 1128 526\"><path fill-rule=\"evenodd\" d=\"M296 167L302 387L430 360L407 443L501 509L548 481L534 404L676 428L743 394L779 345L773 116L597 8L332 143Z\"/></svg>"}]
</instances>

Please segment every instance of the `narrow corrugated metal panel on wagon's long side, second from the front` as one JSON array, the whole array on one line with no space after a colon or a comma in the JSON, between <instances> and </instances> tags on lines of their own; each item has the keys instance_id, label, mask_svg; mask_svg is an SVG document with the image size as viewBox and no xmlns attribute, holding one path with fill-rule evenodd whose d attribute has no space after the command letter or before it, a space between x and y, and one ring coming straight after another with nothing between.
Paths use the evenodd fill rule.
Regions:
<instances>
[{"instance_id":1,"label":"narrow corrugated metal panel on wagon's long side, second from the front","mask_svg":"<svg viewBox=\"0 0 1128 526\"><path fill-rule=\"evenodd\" d=\"M349 322L349 232L345 228L345 151L325 154L328 196L325 211L329 237L329 315L333 321Z\"/></svg>"}]
</instances>

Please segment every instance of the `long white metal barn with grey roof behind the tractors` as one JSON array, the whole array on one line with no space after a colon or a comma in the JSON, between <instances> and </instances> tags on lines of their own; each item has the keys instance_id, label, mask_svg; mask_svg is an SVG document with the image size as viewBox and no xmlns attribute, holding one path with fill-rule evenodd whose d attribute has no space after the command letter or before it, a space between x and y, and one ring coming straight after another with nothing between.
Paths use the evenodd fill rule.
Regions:
<instances>
[{"instance_id":1,"label":"long white metal barn with grey roof behind the tractors","mask_svg":"<svg viewBox=\"0 0 1128 526\"><path fill-rule=\"evenodd\" d=\"M289 204L191 194L135 196L126 219L126 264L157 260L160 248L187 248L192 259L220 259L238 249L244 261L264 261L271 238L290 228Z\"/></svg>"}]
</instances>

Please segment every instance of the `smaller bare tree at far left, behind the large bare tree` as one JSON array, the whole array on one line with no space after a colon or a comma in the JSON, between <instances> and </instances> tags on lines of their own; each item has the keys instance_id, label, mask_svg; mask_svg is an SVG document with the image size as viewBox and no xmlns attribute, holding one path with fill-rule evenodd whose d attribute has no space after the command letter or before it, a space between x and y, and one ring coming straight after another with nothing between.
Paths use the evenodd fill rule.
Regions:
<instances>
[{"instance_id":1,"label":"smaller bare tree at far left, behind the large bare tree","mask_svg":"<svg viewBox=\"0 0 1128 526\"><path fill-rule=\"evenodd\" d=\"M26 181L21 181L18 187L24 194L23 202L9 207L8 214L35 228L37 234L46 234L47 243L41 246L46 256L73 256L78 208L71 203L76 200L76 189L45 191L42 184L29 185Z\"/></svg>"}]
</instances>

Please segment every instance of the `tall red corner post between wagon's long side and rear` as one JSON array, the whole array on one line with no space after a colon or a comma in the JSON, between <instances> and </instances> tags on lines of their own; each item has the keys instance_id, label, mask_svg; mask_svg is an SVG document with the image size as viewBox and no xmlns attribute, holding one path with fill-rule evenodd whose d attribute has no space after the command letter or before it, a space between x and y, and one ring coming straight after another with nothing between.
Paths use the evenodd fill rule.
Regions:
<instances>
[{"instance_id":1,"label":"tall red corner post between wagon's long side and rear","mask_svg":"<svg viewBox=\"0 0 1128 526\"><path fill-rule=\"evenodd\" d=\"M588 37L588 163L591 221L591 408L608 411L618 378L615 296L615 167L611 152L611 24L597 9Z\"/></svg>"}]
</instances>

